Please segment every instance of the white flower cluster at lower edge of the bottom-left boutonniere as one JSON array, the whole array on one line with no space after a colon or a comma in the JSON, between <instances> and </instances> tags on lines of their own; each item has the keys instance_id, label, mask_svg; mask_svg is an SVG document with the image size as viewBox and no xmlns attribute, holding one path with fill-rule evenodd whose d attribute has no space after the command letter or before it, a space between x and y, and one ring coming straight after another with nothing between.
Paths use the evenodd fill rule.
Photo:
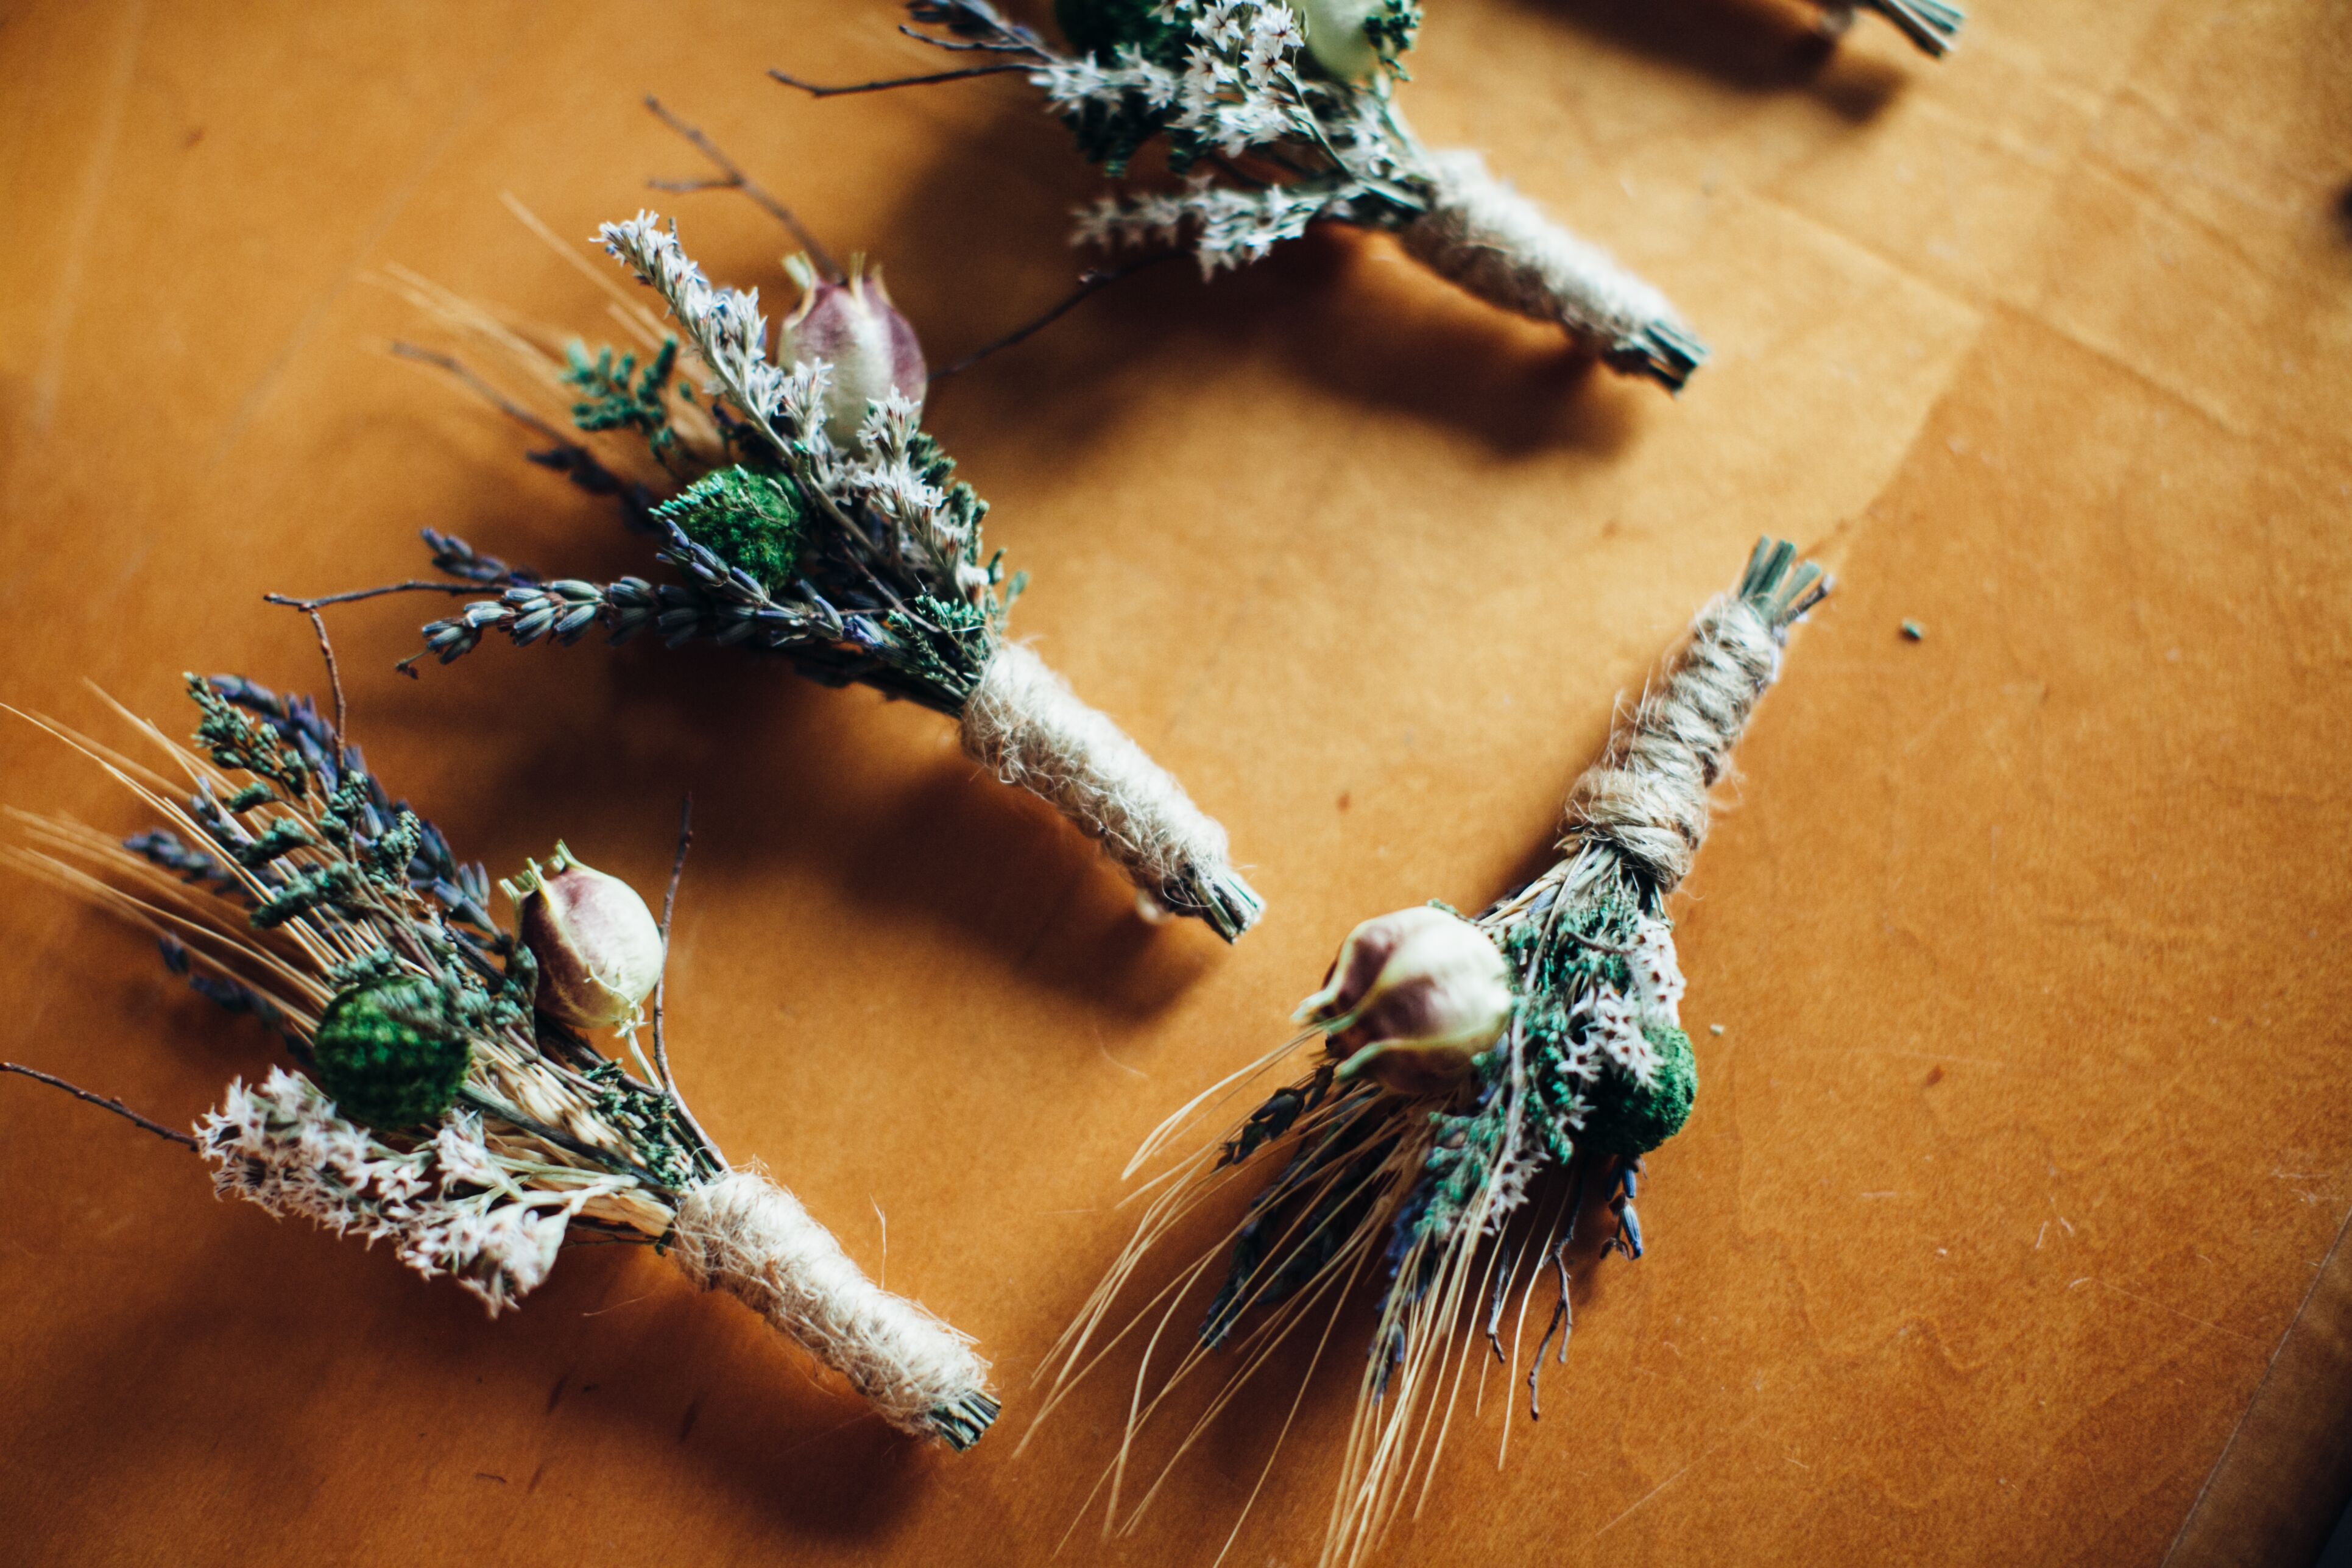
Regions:
<instances>
[{"instance_id":1,"label":"white flower cluster at lower edge of the bottom-left boutonniere","mask_svg":"<svg viewBox=\"0 0 2352 1568\"><path fill-rule=\"evenodd\" d=\"M426 1279L456 1276L492 1316L548 1276L564 1227L593 1197L522 1190L482 1140L480 1117L452 1117L428 1143L395 1150L285 1067L259 1088L233 1081L198 1124L198 1143L214 1192L369 1246L386 1239Z\"/></svg>"}]
</instances>

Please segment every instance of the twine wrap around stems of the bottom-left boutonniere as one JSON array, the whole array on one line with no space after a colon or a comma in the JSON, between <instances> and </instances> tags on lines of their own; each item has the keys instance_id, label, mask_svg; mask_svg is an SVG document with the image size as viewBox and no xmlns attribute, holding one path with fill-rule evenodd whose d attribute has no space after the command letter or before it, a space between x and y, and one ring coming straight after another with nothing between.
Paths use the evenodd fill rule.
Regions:
<instances>
[{"instance_id":1,"label":"twine wrap around stems of the bottom-left boutonniere","mask_svg":"<svg viewBox=\"0 0 2352 1568\"><path fill-rule=\"evenodd\" d=\"M849 1378L901 1432L938 1436L938 1410L988 1392L988 1361L962 1333L866 1279L833 1232L757 1166L687 1190L670 1258Z\"/></svg>"}]
</instances>

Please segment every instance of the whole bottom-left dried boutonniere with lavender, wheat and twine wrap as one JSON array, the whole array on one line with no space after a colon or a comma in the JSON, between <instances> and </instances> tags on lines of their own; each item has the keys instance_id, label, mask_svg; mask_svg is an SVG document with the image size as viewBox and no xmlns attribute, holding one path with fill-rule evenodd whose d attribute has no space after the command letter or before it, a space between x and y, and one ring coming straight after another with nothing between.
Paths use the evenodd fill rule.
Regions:
<instances>
[{"instance_id":1,"label":"whole bottom-left dried boutonniere with lavender, wheat and twine wrap","mask_svg":"<svg viewBox=\"0 0 2352 1568\"><path fill-rule=\"evenodd\" d=\"M31 844L9 858L151 931L200 994L270 1025L294 1067L233 1081L193 1138L9 1072L188 1143L223 1197L388 1241L492 1314L536 1288L572 1234L659 1244L891 1425L955 1448L988 1429L997 1401L971 1342L868 1281L757 1166L731 1168L677 1093L656 987L684 823L659 926L560 849L508 884L520 931L506 931L482 867L393 799L308 698L230 675L191 675L188 693L193 750L139 724L165 773L33 719L160 825L118 842L19 813ZM649 992L652 1063L635 1046ZM590 1046L593 1025L621 1025L640 1072Z\"/></svg>"}]
</instances>

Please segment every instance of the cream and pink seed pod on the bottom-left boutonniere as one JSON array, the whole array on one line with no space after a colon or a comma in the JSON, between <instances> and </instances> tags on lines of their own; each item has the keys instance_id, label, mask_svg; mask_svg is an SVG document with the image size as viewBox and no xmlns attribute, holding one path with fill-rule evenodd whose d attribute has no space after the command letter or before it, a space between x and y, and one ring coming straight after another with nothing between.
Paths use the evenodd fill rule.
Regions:
<instances>
[{"instance_id":1,"label":"cream and pink seed pod on the bottom-left boutonniere","mask_svg":"<svg viewBox=\"0 0 2352 1568\"><path fill-rule=\"evenodd\" d=\"M574 1030L635 1030L663 957L661 926L637 889L581 865L562 842L548 870L532 860L499 886L539 959L539 1011Z\"/></svg>"}]
</instances>

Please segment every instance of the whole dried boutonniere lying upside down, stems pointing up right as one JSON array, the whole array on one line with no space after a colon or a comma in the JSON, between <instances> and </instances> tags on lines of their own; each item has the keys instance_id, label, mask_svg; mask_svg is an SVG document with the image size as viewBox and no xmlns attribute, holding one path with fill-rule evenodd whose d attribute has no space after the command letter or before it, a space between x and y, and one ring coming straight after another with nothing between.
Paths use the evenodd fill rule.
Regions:
<instances>
[{"instance_id":1,"label":"whole dried boutonniere lying upside down, stems pointing up right","mask_svg":"<svg viewBox=\"0 0 2352 1568\"><path fill-rule=\"evenodd\" d=\"M1444 1446L1470 1361L1519 1366L1545 1276L1555 1302L1529 1363L1559 1335L1566 1356L1569 1244L1585 1171L1599 1166L1606 1251L1642 1253L1642 1157L1682 1128L1696 1091L1677 1004L1665 898L1708 827L1708 788L1778 677L1790 625L1825 592L1795 548L1762 541L1715 599L1609 755L1576 783L1562 860L1484 914L1402 910L1350 933L1324 987L1298 1009L1305 1034L1197 1095L1145 1140L1157 1161L1211 1100L1291 1058L1317 1060L1148 1187L1134 1239L1040 1371L1049 1413L1120 1340L1148 1345L1120 1453L1103 1476L1105 1530L1131 1530L1120 1495L1138 1429L1211 1352L1230 1373L1176 1455L1317 1307L1336 1326L1378 1281L1378 1321L1357 1387L1322 1561L1359 1563ZM1247 1213L1185 1262L1124 1326L1112 1309L1143 1258L1235 1185ZM1143 1194L1138 1194L1143 1197ZM1195 1286L1221 1281L1192 1342L1152 1387L1152 1354ZM1331 1328L1317 1335L1315 1359ZM1508 1342L1508 1347L1505 1347ZM1308 1366L1312 1373L1312 1359ZM1279 1436L1275 1441L1279 1453ZM1268 1455L1268 1467L1275 1455ZM1174 1460L1171 1460L1174 1462Z\"/></svg>"}]
</instances>

